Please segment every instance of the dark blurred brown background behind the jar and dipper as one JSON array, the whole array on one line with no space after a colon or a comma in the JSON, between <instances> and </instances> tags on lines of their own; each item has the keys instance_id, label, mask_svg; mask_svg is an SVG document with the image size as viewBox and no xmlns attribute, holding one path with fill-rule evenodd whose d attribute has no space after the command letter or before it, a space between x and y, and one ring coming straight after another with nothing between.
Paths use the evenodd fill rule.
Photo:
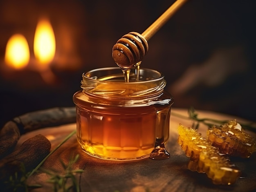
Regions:
<instances>
[{"instance_id":1,"label":"dark blurred brown background behind the jar and dipper","mask_svg":"<svg viewBox=\"0 0 256 192\"><path fill-rule=\"evenodd\" d=\"M173 2L1 0L0 126L31 111L74 106L82 73L116 66L111 54L117 40L142 33ZM141 67L164 73L173 107L256 120L255 7L255 0L188 0L148 41ZM34 52L42 18L55 38L48 61ZM15 34L27 40L27 65L4 59Z\"/></svg>"}]
</instances>

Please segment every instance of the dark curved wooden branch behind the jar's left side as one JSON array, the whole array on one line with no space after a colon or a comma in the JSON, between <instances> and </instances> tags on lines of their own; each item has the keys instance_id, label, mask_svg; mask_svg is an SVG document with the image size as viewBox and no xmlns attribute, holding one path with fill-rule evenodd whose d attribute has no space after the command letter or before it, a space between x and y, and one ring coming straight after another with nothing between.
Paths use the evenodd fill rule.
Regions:
<instances>
[{"instance_id":1,"label":"dark curved wooden branch behind the jar's left side","mask_svg":"<svg viewBox=\"0 0 256 192\"><path fill-rule=\"evenodd\" d=\"M10 154L20 135L45 127L53 127L76 122L75 107L56 107L26 113L8 121L0 129L0 159Z\"/></svg>"}]
</instances>

